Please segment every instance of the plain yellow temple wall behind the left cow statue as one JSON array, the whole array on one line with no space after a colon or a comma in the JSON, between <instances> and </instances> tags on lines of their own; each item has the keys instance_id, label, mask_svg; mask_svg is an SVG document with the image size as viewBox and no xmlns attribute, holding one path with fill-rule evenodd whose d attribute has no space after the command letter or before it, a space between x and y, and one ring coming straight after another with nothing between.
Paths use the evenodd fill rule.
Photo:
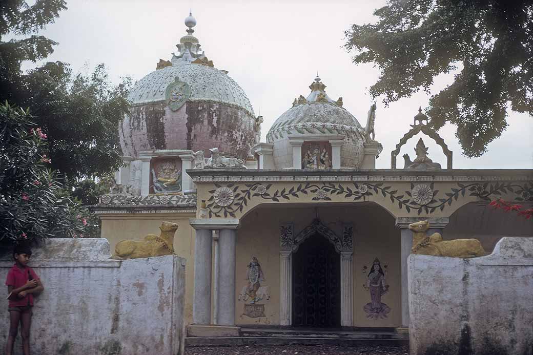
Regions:
<instances>
[{"instance_id":1,"label":"plain yellow temple wall behind the left cow statue","mask_svg":"<svg viewBox=\"0 0 533 355\"><path fill-rule=\"evenodd\" d=\"M189 218L195 213L181 214L115 214L101 216L102 238L109 240L111 252L120 240L142 240L149 233L159 234L162 222L173 222L179 225L174 235L174 251L185 260L189 267L185 270L185 322L192 322L192 292L194 284L194 245L195 231L189 224Z\"/></svg>"}]
</instances>

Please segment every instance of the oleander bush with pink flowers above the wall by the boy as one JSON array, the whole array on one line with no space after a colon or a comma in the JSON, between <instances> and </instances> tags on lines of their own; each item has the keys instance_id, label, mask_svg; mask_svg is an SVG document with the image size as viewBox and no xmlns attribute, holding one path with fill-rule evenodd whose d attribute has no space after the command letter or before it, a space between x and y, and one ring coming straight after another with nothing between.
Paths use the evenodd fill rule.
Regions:
<instances>
[{"instance_id":1,"label":"oleander bush with pink flowers above the wall by the boy","mask_svg":"<svg viewBox=\"0 0 533 355\"><path fill-rule=\"evenodd\" d=\"M86 211L50 168L46 134L27 111L0 104L0 245L83 237Z\"/></svg>"}]
</instances>

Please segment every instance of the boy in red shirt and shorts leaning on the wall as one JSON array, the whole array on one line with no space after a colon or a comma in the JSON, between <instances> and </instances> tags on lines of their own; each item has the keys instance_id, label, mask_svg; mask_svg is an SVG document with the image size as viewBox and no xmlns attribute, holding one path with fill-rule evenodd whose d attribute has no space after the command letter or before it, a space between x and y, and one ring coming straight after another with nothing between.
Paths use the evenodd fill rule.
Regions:
<instances>
[{"instance_id":1,"label":"boy in red shirt and shorts leaning on the wall","mask_svg":"<svg viewBox=\"0 0 533 355\"><path fill-rule=\"evenodd\" d=\"M29 268L31 249L27 246L17 246L13 251L15 264L7 273L5 284L9 297L10 328L7 337L6 355L12 355L13 343L17 337L19 321L22 327L22 350L24 355L30 353L30 325L33 294L43 291L44 287L37 274Z\"/></svg>"}]
</instances>

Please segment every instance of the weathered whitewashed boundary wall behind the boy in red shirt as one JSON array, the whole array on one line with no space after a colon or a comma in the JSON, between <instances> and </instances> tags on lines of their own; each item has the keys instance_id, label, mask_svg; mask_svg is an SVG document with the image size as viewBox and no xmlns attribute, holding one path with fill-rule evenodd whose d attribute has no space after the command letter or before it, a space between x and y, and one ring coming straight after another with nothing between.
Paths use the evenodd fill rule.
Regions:
<instances>
[{"instance_id":1,"label":"weathered whitewashed boundary wall behind the boy in red shirt","mask_svg":"<svg viewBox=\"0 0 533 355\"><path fill-rule=\"evenodd\" d=\"M35 300L33 353L182 354L185 259L113 261L108 256L109 244L102 238L54 239L36 250L30 266L45 290ZM12 264L0 261L2 280ZM6 310L7 302L0 297L0 309ZM4 314L2 349L8 332Z\"/></svg>"}]
</instances>

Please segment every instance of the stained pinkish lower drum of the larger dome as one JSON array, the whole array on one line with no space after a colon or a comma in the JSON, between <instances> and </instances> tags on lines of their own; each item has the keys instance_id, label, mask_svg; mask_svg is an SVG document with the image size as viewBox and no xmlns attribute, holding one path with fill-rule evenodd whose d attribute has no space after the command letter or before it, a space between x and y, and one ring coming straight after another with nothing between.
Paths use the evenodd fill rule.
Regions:
<instances>
[{"instance_id":1,"label":"stained pinkish lower drum of the larger dome","mask_svg":"<svg viewBox=\"0 0 533 355\"><path fill-rule=\"evenodd\" d=\"M188 101L172 111L165 102L132 108L119 127L120 146L126 156L156 149L221 151L245 159L254 143L254 117L236 105L214 101Z\"/></svg>"}]
</instances>

